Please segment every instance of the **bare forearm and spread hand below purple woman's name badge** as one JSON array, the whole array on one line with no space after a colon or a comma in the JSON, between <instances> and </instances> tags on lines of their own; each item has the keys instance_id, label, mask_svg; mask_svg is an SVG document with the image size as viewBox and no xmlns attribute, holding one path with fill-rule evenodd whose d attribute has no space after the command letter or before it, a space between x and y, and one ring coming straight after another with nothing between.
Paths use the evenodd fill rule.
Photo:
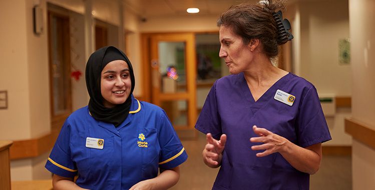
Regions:
<instances>
[{"instance_id":1,"label":"bare forearm and spread hand below purple woman's name badge","mask_svg":"<svg viewBox=\"0 0 375 190\"><path fill-rule=\"evenodd\" d=\"M262 142L261 145L251 146L252 150L265 150L256 156L263 157L274 152L279 152L294 168L299 171L314 174L318 171L321 160L321 143L305 148L297 146L288 139L274 134L255 125L253 130L259 137L250 138L251 142Z\"/></svg>"}]
</instances>

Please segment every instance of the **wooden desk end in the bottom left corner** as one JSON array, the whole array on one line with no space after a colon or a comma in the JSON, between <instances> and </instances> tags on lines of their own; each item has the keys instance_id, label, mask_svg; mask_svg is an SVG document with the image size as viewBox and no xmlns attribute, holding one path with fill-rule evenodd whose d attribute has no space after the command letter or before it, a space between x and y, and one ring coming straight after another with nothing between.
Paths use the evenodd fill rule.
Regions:
<instances>
[{"instance_id":1,"label":"wooden desk end in the bottom left corner","mask_svg":"<svg viewBox=\"0 0 375 190\"><path fill-rule=\"evenodd\" d=\"M0 140L0 189L11 189L11 166L9 159L9 147L12 141Z\"/></svg>"}]
</instances>

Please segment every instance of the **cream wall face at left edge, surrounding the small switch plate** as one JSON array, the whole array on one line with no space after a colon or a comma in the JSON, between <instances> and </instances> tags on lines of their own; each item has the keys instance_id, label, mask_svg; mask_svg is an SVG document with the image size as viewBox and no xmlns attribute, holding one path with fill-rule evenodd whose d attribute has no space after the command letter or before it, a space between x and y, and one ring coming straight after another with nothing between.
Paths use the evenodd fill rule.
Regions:
<instances>
[{"instance_id":1,"label":"cream wall face at left edge, surrounding the small switch plate","mask_svg":"<svg viewBox=\"0 0 375 190\"><path fill-rule=\"evenodd\" d=\"M0 2L0 90L8 91L8 109L0 109L0 139L31 137L27 2ZM17 13L17 14L16 14Z\"/></svg>"}]
</instances>

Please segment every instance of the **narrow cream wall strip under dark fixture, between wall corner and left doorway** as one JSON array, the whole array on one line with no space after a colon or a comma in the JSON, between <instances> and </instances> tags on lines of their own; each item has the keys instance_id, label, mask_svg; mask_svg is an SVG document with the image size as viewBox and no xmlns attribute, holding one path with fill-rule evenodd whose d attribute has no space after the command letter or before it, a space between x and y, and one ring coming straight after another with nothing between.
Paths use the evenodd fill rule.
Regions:
<instances>
[{"instance_id":1,"label":"narrow cream wall strip under dark fixture, between wall corner and left doorway","mask_svg":"<svg viewBox=\"0 0 375 190\"><path fill-rule=\"evenodd\" d=\"M32 1L26 2L26 35L27 35L27 70L29 100L30 100L30 133L31 138L37 138L50 133L50 88L47 46L47 17L44 16L44 31L35 35L33 24ZM40 4L46 10L46 3ZM38 48L35 48L38 47Z\"/></svg>"}]
</instances>

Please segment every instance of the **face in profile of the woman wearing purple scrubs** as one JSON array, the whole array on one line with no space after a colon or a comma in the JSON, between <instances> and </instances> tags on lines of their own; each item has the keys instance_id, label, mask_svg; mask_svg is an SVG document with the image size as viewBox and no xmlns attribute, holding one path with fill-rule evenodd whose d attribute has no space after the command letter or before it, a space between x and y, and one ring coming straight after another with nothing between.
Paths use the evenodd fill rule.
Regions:
<instances>
[{"instance_id":1,"label":"face in profile of the woman wearing purple scrubs","mask_svg":"<svg viewBox=\"0 0 375 190\"><path fill-rule=\"evenodd\" d=\"M219 57L224 58L229 72L238 74L248 69L249 63L253 60L250 45L245 45L242 38L235 35L231 28L221 26L219 33Z\"/></svg>"}]
</instances>

